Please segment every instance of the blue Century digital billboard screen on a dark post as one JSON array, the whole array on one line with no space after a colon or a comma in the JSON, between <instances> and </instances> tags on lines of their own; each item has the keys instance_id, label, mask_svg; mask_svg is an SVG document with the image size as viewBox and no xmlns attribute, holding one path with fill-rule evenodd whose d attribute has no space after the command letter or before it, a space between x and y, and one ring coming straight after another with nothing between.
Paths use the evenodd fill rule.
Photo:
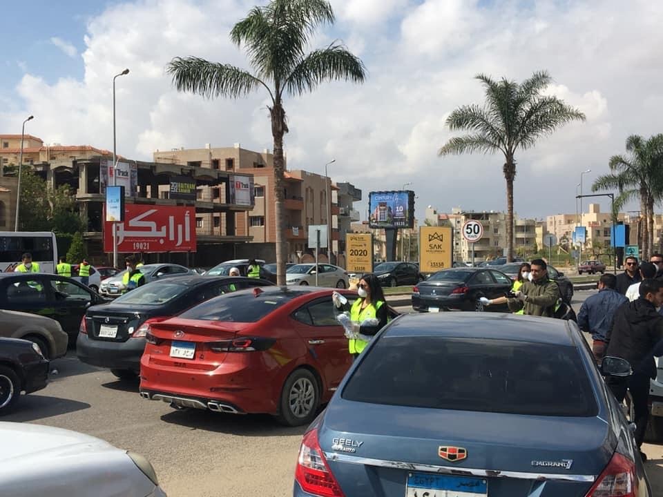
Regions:
<instances>
[{"instance_id":1,"label":"blue Century digital billboard screen on a dark post","mask_svg":"<svg viewBox=\"0 0 663 497\"><path fill-rule=\"evenodd\" d=\"M368 194L371 228L414 228L414 192L385 191Z\"/></svg>"}]
</instances>

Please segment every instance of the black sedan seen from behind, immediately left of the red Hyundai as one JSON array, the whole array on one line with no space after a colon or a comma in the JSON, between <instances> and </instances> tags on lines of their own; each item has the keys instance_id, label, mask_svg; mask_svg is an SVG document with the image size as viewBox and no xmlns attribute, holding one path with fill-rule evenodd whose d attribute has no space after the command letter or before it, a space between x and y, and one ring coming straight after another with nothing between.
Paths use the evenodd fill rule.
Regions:
<instances>
[{"instance_id":1,"label":"black sedan seen from behind, immediately left of the red Hyundai","mask_svg":"<svg viewBox=\"0 0 663 497\"><path fill-rule=\"evenodd\" d=\"M135 378L145 348L148 319L159 320L223 293L267 286L257 278L180 276L133 289L111 304L93 306L80 322L76 353L82 362L106 367L117 378Z\"/></svg>"}]
</instances>

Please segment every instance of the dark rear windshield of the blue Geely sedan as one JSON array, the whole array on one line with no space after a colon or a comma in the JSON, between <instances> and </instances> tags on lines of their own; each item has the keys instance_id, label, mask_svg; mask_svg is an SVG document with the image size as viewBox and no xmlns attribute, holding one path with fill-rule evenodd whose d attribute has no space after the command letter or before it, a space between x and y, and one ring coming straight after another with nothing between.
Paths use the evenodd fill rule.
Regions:
<instances>
[{"instance_id":1,"label":"dark rear windshield of the blue Geely sedan","mask_svg":"<svg viewBox=\"0 0 663 497\"><path fill-rule=\"evenodd\" d=\"M532 416L598 413L575 347L514 340L382 338L349 379L343 398Z\"/></svg>"}]
</instances>

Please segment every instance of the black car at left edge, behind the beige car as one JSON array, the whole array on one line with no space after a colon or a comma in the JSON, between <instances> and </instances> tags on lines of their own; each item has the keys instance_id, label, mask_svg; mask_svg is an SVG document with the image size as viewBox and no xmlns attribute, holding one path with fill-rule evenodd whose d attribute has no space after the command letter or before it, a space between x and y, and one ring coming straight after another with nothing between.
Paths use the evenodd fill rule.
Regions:
<instances>
[{"instance_id":1,"label":"black car at left edge, behind the beige car","mask_svg":"<svg viewBox=\"0 0 663 497\"><path fill-rule=\"evenodd\" d=\"M47 273L0 273L0 309L44 315L76 339L90 305L107 302L84 284Z\"/></svg>"}]
</instances>

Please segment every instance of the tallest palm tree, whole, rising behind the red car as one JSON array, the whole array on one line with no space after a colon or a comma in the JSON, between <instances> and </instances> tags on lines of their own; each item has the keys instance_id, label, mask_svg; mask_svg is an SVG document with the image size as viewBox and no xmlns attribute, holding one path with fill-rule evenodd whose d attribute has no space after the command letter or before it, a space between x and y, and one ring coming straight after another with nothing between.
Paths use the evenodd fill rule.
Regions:
<instances>
[{"instance_id":1,"label":"tallest palm tree, whole, rising behind the red car","mask_svg":"<svg viewBox=\"0 0 663 497\"><path fill-rule=\"evenodd\" d=\"M267 91L271 99L268 108L276 183L276 275L280 285L285 285L286 258L283 135L288 133L288 126L283 100L287 95L311 92L326 80L361 83L366 77L363 62L338 41L305 52L316 29L332 23L334 12L326 0L272 0L267 6L251 9L230 33L233 43L247 51L253 72L198 57L175 57L167 68L177 90L207 98L240 98L254 90Z\"/></svg>"}]
</instances>

